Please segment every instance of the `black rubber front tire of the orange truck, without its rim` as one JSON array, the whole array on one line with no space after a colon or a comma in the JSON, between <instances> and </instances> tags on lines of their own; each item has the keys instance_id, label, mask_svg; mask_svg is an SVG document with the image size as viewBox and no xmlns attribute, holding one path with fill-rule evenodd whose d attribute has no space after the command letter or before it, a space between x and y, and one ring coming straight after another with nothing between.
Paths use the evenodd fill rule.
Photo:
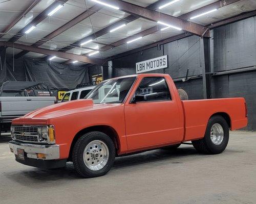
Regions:
<instances>
[{"instance_id":1,"label":"black rubber front tire of the orange truck, without its rim","mask_svg":"<svg viewBox=\"0 0 256 204\"><path fill-rule=\"evenodd\" d=\"M105 173L107 173L112 168L112 166L114 164L114 160L115 160L115 146L114 146L114 143L111 140L111 138L108 135L101 133L101 132L90 132L90 133L83 135L81 138L79 138L79 140L81 140L81 141L77 141L80 143L79 147L77 146L74 148L74 151L77 151L77 160L75 160L77 164L74 164L74 166L75 166L75 168L77 168L77 167L79 168L79 169L77 169L78 173L80 173L84 177L101 176L101 175L104 175ZM108 162L102 169L99 169L97 171L93 171L93 170L89 169L86 166L86 164L84 164L84 161L83 161L84 149L90 142L92 142L94 140L101 140L109 148Z\"/></svg>"}]
</instances>

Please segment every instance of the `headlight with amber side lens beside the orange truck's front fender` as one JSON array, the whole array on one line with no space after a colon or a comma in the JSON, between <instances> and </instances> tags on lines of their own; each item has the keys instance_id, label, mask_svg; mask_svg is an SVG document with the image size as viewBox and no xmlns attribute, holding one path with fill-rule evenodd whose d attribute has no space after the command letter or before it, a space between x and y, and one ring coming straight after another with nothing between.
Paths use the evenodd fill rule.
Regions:
<instances>
[{"instance_id":1,"label":"headlight with amber side lens beside the orange truck's front fender","mask_svg":"<svg viewBox=\"0 0 256 204\"><path fill-rule=\"evenodd\" d=\"M55 143L54 126L41 126L37 128L37 133L40 142Z\"/></svg>"}]
</instances>

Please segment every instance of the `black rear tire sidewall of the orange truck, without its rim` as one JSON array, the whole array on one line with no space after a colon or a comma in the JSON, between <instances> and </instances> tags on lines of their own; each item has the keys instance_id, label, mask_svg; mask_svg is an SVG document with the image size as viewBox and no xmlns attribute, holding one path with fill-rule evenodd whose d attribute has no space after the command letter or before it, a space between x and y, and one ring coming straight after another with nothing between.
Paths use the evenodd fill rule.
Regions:
<instances>
[{"instance_id":1,"label":"black rear tire sidewall of the orange truck, without its rim","mask_svg":"<svg viewBox=\"0 0 256 204\"><path fill-rule=\"evenodd\" d=\"M223 141L221 144L216 145L214 144L211 139L210 139L210 131L212 125L219 123L224 131L224 137ZM206 143L206 148L211 154L220 154L222 151L225 150L229 140L229 126L226 122L226 120L222 116L213 116L210 118L207 127L206 127L206 132L204 136L204 141Z\"/></svg>"}]
</instances>

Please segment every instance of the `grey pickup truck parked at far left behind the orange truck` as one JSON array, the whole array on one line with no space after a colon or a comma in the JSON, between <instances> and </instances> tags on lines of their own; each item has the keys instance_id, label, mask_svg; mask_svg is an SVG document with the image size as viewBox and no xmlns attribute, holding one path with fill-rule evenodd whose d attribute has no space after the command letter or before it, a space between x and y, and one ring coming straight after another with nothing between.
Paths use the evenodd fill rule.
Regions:
<instances>
[{"instance_id":1,"label":"grey pickup truck parked at far left behind the orange truck","mask_svg":"<svg viewBox=\"0 0 256 204\"><path fill-rule=\"evenodd\" d=\"M37 82L3 83L0 91L0 134L1 131L10 131L12 119L56 102L48 87L47 90L41 87L42 84ZM45 95L49 96L35 96L37 92L46 92Z\"/></svg>"}]
</instances>

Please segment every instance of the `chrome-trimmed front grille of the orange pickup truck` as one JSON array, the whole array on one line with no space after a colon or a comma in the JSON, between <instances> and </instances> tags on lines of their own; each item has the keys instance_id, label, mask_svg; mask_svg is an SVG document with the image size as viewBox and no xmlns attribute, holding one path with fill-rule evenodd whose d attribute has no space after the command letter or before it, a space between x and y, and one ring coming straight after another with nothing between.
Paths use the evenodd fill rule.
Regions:
<instances>
[{"instance_id":1,"label":"chrome-trimmed front grille of the orange pickup truck","mask_svg":"<svg viewBox=\"0 0 256 204\"><path fill-rule=\"evenodd\" d=\"M37 134L39 126L14 125L13 139L23 142L40 142Z\"/></svg>"}]
</instances>

